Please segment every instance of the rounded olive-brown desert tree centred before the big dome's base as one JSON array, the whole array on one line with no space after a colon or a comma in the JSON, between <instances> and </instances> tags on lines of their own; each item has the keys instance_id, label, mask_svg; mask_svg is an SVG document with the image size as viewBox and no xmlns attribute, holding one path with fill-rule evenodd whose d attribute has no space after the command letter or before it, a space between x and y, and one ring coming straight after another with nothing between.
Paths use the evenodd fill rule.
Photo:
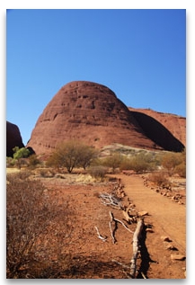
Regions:
<instances>
[{"instance_id":1,"label":"rounded olive-brown desert tree centred before the big dome's base","mask_svg":"<svg viewBox=\"0 0 195 285\"><path fill-rule=\"evenodd\" d=\"M75 167L90 165L95 156L93 147L88 147L76 140L69 140L58 144L56 150L49 157L47 165L57 168L66 167L69 174Z\"/></svg>"}]
</instances>

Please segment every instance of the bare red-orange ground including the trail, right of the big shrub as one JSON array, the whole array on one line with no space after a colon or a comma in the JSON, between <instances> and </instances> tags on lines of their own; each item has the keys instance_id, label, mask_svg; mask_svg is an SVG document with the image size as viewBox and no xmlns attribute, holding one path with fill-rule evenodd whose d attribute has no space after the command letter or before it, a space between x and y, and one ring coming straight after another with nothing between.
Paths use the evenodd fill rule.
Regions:
<instances>
[{"instance_id":1,"label":"bare red-orange ground including the trail, right of the big shrub","mask_svg":"<svg viewBox=\"0 0 195 285\"><path fill-rule=\"evenodd\" d=\"M147 279L185 279L185 258L182 261L171 258L172 254L186 254L185 202L178 204L146 187L141 175L116 174L111 177L117 177L124 185L123 190L127 194L124 204L130 200L137 211L148 212L144 222L145 225L150 225L151 232L144 228L136 278L143 279L145 276ZM48 190L55 188L60 197L68 199L70 206L76 211L76 220L70 221L74 227L75 243L68 245L76 265L71 272L64 275L62 273L60 278L130 278L129 268L123 265L130 265L133 234L118 224L115 232L117 242L113 244L109 227L110 211L115 218L126 222L120 209L103 205L98 197L100 193L111 192L117 183L75 184L57 178L44 178L42 181ZM136 223L126 225L132 231L137 227ZM106 242L98 238L95 227L98 227L102 236L107 236ZM162 236L169 237L169 242L163 241ZM173 245L173 249L167 249L168 245Z\"/></svg>"}]
</instances>

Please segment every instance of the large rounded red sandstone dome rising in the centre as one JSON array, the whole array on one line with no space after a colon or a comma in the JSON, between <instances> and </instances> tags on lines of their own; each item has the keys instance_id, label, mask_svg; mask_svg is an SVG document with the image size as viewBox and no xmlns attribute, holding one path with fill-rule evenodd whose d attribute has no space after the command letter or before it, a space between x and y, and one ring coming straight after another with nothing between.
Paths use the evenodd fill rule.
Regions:
<instances>
[{"instance_id":1,"label":"large rounded red sandstone dome rising in the centre","mask_svg":"<svg viewBox=\"0 0 195 285\"><path fill-rule=\"evenodd\" d=\"M49 153L59 141L74 138L103 147L120 143L162 149L147 138L128 107L104 85L75 81L63 86L46 106L27 147Z\"/></svg>"}]
</instances>

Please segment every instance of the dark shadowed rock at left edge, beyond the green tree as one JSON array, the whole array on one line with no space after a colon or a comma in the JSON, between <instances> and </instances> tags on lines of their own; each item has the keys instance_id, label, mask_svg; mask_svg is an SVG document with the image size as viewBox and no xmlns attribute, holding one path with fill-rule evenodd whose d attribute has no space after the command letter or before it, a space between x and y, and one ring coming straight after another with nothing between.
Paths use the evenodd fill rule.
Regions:
<instances>
[{"instance_id":1,"label":"dark shadowed rock at left edge, beyond the green tree","mask_svg":"<svg viewBox=\"0 0 195 285\"><path fill-rule=\"evenodd\" d=\"M6 121L6 156L13 156L13 147L24 147L20 129Z\"/></svg>"}]
</instances>

